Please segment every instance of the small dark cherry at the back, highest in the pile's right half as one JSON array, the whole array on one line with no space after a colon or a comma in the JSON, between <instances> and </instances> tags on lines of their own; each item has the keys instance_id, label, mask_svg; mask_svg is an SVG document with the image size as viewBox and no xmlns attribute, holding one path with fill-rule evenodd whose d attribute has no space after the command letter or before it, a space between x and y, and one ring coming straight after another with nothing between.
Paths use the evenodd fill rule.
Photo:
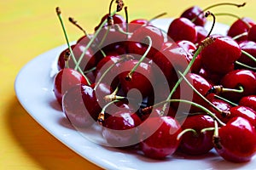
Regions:
<instances>
[{"instance_id":1,"label":"small dark cherry at the back, highest in the pile's right half","mask_svg":"<svg viewBox=\"0 0 256 170\"><path fill-rule=\"evenodd\" d=\"M207 22L207 18L204 16L202 9L198 6L188 8L183 12L183 14L181 14L181 17L187 18L189 20L195 20L196 18L194 21L196 26L205 26Z\"/></svg>"}]
</instances>

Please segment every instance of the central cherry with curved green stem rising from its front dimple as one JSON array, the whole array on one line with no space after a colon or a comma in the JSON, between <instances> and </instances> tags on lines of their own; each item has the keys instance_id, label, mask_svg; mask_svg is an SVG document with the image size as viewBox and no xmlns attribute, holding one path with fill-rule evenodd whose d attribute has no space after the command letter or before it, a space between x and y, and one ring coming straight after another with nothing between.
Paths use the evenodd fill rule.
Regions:
<instances>
[{"instance_id":1,"label":"central cherry with curved green stem rising from its front dimple","mask_svg":"<svg viewBox=\"0 0 256 170\"><path fill-rule=\"evenodd\" d=\"M119 82L124 90L125 94L127 94L131 89L137 89L143 97L148 96L154 92L154 75L152 71L151 65L148 65L144 62L140 63L133 72L131 76L131 80L127 79L127 75L129 72L137 65L138 60L132 59L127 60L119 65Z\"/></svg>"}]
</instances>

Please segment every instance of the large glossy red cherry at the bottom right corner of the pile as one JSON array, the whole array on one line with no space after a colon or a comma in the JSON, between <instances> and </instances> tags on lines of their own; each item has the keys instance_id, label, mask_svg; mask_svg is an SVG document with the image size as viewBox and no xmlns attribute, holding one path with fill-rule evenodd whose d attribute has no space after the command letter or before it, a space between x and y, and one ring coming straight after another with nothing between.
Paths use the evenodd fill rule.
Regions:
<instances>
[{"instance_id":1,"label":"large glossy red cherry at the bottom right corner of the pile","mask_svg":"<svg viewBox=\"0 0 256 170\"><path fill-rule=\"evenodd\" d=\"M234 117L218 130L215 149L227 161L250 161L256 152L256 132L247 119Z\"/></svg>"}]
</instances>

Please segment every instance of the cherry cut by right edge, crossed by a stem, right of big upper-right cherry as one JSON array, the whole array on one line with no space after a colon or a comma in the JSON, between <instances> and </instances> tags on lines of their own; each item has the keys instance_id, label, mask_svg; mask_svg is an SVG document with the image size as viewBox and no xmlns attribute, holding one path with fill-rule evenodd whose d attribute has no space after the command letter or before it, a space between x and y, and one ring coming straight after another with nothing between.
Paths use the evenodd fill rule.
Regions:
<instances>
[{"instance_id":1,"label":"cherry cut by right edge, crossed by a stem, right of big upper-right cherry","mask_svg":"<svg viewBox=\"0 0 256 170\"><path fill-rule=\"evenodd\" d=\"M243 41L239 43L239 46L241 50L247 52L248 54L256 56L256 42ZM256 59L256 57L254 58ZM256 62L253 62L253 60L248 58L246 54L241 54L241 57L237 59L237 61L251 67L256 67ZM236 67L241 69L240 65L236 65Z\"/></svg>"}]
</instances>

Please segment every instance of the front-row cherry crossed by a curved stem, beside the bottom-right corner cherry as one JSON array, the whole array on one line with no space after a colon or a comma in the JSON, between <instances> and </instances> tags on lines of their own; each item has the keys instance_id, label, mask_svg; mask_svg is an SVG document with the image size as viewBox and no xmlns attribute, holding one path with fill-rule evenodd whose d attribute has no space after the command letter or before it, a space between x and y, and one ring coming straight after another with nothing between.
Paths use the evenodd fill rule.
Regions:
<instances>
[{"instance_id":1,"label":"front-row cherry crossed by a curved stem, beside the bottom-right corner cherry","mask_svg":"<svg viewBox=\"0 0 256 170\"><path fill-rule=\"evenodd\" d=\"M184 133L179 144L179 149L189 155L202 155L212 150L213 131L201 133L201 130L207 127L214 127L211 116L191 115L186 118L182 124L183 129L192 128L196 131Z\"/></svg>"}]
</instances>

